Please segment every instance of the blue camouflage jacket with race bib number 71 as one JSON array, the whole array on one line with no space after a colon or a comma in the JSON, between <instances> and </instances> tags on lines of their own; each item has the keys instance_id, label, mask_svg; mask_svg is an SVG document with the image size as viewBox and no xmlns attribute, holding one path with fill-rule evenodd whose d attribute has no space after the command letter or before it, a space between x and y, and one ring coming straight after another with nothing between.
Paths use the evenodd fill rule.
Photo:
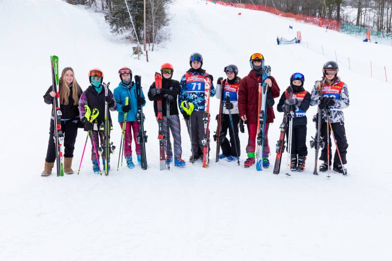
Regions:
<instances>
[{"instance_id":1,"label":"blue camouflage jacket with race bib number 71","mask_svg":"<svg viewBox=\"0 0 392 261\"><path fill-rule=\"evenodd\" d=\"M204 112L204 76L208 73L202 69L188 70L181 78L181 91L178 95L178 106L181 113L184 111L181 108L182 101L192 102L195 105L194 111ZM214 84L211 82L210 97L216 94Z\"/></svg>"}]
</instances>

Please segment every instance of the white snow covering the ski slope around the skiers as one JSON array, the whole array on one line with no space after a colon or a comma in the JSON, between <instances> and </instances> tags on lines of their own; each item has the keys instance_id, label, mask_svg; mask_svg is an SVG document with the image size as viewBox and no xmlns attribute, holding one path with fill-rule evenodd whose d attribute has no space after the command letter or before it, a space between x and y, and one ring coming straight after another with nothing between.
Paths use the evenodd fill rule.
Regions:
<instances>
[{"instance_id":1,"label":"white snow covering the ski slope around the skiers","mask_svg":"<svg viewBox=\"0 0 392 261\"><path fill-rule=\"evenodd\" d=\"M51 84L49 55L60 57L60 71L72 66L83 89L87 71L100 67L104 81L119 82L118 69L142 75L145 93L160 65L174 65L179 79L198 51L203 68L215 78L234 63L245 76L251 53L261 52L281 91L295 71L305 74L305 89L320 78L326 58L299 45L277 46L288 21L268 13L177 0L171 8L172 38L149 53L149 63L129 58L130 45L109 33L98 13L60 0L0 1L0 260L168 260L168 261L340 261L392 259L391 83L341 67L350 106L344 110L349 143L343 177L312 175L309 149L303 173L273 175L235 163L159 171L157 124L152 103L145 107L148 169L113 170L96 176L84 160L80 175L42 178L50 106L42 95ZM392 59L391 47L308 24L295 24L304 39L380 64ZM214 82L215 84L215 82ZM277 101L276 101L277 102ZM212 98L212 115L218 100ZM308 111L308 140L314 135ZM116 113L115 113L116 115ZM270 126L271 163L281 115ZM115 117L114 117L115 118ZM182 120L183 158L190 142ZM211 122L211 131L216 122ZM73 169L86 134L79 130ZM247 137L240 135L245 160ZM120 143L115 125L112 140ZM88 145L89 147L89 145ZM88 158L88 157L87 157ZM118 151L112 166L117 164ZM285 169L283 157L282 170Z\"/></svg>"}]
</instances>

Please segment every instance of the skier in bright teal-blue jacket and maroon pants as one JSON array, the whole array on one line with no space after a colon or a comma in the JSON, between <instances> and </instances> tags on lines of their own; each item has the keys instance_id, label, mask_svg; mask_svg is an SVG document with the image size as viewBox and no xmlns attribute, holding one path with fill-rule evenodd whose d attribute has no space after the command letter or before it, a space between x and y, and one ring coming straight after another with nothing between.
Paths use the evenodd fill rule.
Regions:
<instances>
[{"instance_id":1,"label":"skier in bright teal-blue jacket and maroon pants","mask_svg":"<svg viewBox=\"0 0 392 261\"><path fill-rule=\"evenodd\" d=\"M137 142L139 133L139 123L137 121L138 105L145 106L146 99L143 94L138 99L136 96L136 84L132 81L132 71L128 67L123 67L119 70L119 76L121 82L116 89L114 89L114 99L117 102L117 111L119 112L119 123L123 129L124 114L126 113L125 121L125 135L124 135L124 156L126 165L129 168L134 168L135 165L132 162L132 133L135 139L135 150L139 165L141 165L140 157L140 144ZM128 105L125 105L125 98L129 97Z\"/></svg>"}]
</instances>

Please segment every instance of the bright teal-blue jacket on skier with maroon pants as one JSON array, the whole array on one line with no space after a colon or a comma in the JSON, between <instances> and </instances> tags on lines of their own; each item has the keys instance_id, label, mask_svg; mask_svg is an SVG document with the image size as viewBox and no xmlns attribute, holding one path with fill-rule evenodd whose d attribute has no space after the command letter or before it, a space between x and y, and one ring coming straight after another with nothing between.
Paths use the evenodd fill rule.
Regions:
<instances>
[{"instance_id":1,"label":"bright teal-blue jacket on skier with maroon pants","mask_svg":"<svg viewBox=\"0 0 392 261\"><path fill-rule=\"evenodd\" d=\"M124 86L122 82L120 82L119 86L114 89L114 99L117 103L117 111L119 112L119 122L124 121L124 112L123 105L125 105L125 98L129 97L129 105L131 107L130 111L126 115L126 121L135 121L137 120L138 115L138 101L136 96L136 84L133 83L131 89ZM142 88L142 97L144 98L143 88ZM146 101L143 106L146 105Z\"/></svg>"}]
</instances>

